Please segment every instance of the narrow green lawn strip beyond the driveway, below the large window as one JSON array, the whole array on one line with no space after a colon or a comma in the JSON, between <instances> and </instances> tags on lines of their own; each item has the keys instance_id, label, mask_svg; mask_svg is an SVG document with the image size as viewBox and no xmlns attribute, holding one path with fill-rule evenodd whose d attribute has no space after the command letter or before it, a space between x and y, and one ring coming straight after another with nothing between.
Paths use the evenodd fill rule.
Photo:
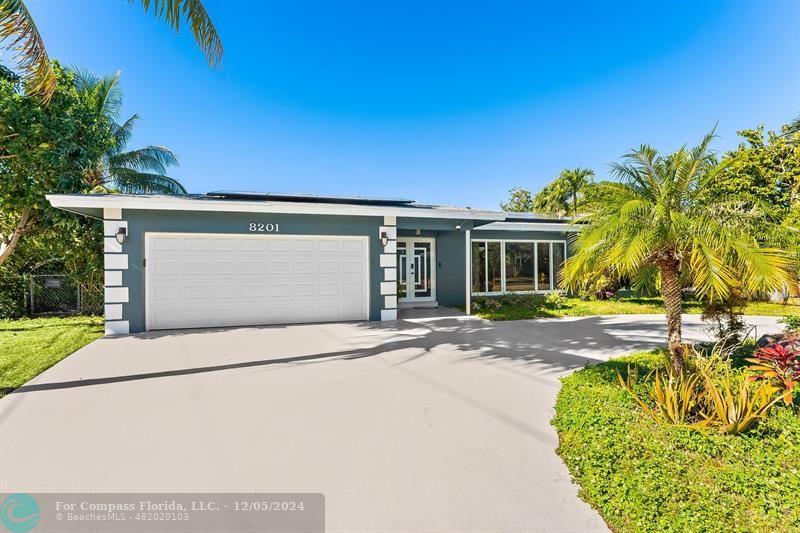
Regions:
<instances>
[{"instance_id":1,"label":"narrow green lawn strip beyond the driveway, below the large window","mask_svg":"<svg viewBox=\"0 0 800 533\"><path fill-rule=\"evenodd\" d=\"M501 298L502 299L502 298ZM522 299L521 299L522 300ZM697 301L684 302L684 313L700 314L702 304ZM539 298L528 298L523 303L502 304L498 309L473 309L473 314L489 320L525 320L529 318L548 318L564 316L592 315L633 315L663 314L661 298L618 298L612 300L581 300L566 298L561 308L547 304ZM800 299L793 299L787 305L771 302L750 302L747 315L786 316L800 315Z\"/></svg>"}]
</instances>

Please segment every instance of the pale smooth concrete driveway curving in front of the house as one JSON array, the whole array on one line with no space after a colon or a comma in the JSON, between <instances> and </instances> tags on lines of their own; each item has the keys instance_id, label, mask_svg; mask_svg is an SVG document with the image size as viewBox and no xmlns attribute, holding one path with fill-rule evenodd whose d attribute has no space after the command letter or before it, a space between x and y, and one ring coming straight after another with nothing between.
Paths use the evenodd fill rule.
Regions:
<instances>
[{"instance_id":1,"label":"pale smooth concrete driveway curving in front of the house","mask_svg":"<svg viewBox=\"0 0 800 533\"><path fill-rule=\"evenodd\" d=\"M0 401L0 491L322 492L328 531L605 530L554 452L558 378L660 345L663 318L422 315L98 340Z\"/></svg>"}]
</instances>

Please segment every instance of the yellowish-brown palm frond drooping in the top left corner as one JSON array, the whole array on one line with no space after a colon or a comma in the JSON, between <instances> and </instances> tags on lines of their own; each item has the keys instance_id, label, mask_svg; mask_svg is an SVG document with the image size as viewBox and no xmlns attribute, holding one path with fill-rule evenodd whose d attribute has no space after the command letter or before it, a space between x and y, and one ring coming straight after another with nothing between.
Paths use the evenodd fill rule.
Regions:
<instances>
[{"instance_id":1,"label":"yellowish-brown palm frond drooping in the top left corner","mask_svg":"<svg viewBox=\"0 0 800 533\"><path fill-rule=\"evenodd\" d=\"M56 74L39 29L22 0L0 0L0 41L8 41L5 47L14 52L28 91L49 102L56 89Z\"/></svg>"}]
</instances>

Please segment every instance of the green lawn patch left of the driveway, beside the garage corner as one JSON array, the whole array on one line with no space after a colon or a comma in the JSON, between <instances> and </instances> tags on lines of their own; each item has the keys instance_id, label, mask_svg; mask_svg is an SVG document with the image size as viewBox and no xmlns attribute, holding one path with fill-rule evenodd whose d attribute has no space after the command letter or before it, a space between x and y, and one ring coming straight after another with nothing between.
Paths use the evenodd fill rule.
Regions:
<instances>
[{"instance_id":1,"label":"green lawn patch left of the driveway, beside the garage corner","mask_svg":"<svg viewBox=\"0 0 800 533\"><path fill-rule=\"evenodd\" d=\"M102 335L100 317L0 320L0 397Z\"/></svg>"}]
</instances>

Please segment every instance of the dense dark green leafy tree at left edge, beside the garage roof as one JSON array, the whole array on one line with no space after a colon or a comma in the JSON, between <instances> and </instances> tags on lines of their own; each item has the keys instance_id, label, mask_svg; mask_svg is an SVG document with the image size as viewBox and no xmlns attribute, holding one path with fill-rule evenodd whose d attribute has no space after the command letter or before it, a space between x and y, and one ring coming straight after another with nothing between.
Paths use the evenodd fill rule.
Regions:
<instances>
[{"instance_id":1,"label":"dense dark green leafy tree at left edge, beside the garage roof","mask_svg":"<svg viewBox=\"0 0 800 533\"><path fill-rule=\"evenodd\" d=\"M84 190L83 171L114 146L113 124L81 94L75 75L52 65L49 105L0 78L0 264L42 219L46 194Z\"/></svg>"}]
</instances>

